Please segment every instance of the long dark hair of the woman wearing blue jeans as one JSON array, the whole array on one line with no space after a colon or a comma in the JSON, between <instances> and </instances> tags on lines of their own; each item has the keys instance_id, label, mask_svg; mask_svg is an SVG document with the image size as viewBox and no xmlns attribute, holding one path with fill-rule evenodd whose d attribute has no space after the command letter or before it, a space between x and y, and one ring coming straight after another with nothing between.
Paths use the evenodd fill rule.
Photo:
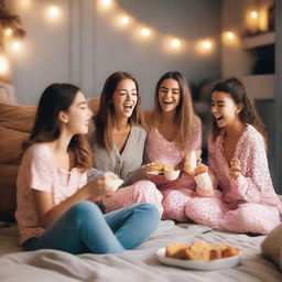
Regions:
<instances>
[{"instance_id":1,"label":"long dark hair of the woman wearing blue jeans","mask_svg":"<svg viewBox=\"0 0 282 282\"><path fill-rule=\"evenodd\" d=\"M52 84L42 94L30 139L23 143L26 150L34 143L52 142L62 132L58 113L67 111L79 88L70 84ZM75 134L68 144L72 167L83 172L93 166L91 153L85 134Z\"/></svg>"}]
</instances>

